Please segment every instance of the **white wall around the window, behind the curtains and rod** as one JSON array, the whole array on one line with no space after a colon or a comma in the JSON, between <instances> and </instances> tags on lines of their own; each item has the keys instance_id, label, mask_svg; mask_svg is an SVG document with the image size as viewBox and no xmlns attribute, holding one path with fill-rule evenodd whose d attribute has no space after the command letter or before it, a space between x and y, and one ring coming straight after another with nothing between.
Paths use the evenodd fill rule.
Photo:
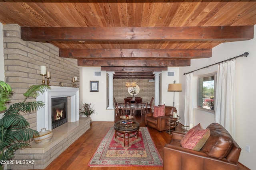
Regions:
<instances>
[{"instance_id":1,"label":"white wall around the window, behind the curtains and rod","mask_svg":"<svg viewBox=\"0 0 256 170\"><path fill-rule=\"evenodd\" d=\"M254 133L255 99L256 90L256 27L254 26L254 39L248 41L238 41L230 43L222 43L212 49L212 57L209 59L191 60L191 66L180 67L180 83L185 84L185 76L183 73L218 63L232 57L236 57L248 52L248 57L240 57L236 59L236 142L242 148L239 162L248 168L256 169L256 135ZM204 68L193 73L193 76L207 74L217 71L217 65ZM183 86L182 86L183 88ZM193 87L196 95L193 100L197 102L197 86ZM185 91L179 93L180 101L185 101ZM194 105L195 106L195 105ZM184 102L180 102L180 112L184 113ZM194 125L200 123L206 128L210 123L214 122L214 114L202 111L194 107ZM184 123L184 122L183 122ZM250 152L246 151L246 145L250 146Z\"/></svg>"}]
</instances>

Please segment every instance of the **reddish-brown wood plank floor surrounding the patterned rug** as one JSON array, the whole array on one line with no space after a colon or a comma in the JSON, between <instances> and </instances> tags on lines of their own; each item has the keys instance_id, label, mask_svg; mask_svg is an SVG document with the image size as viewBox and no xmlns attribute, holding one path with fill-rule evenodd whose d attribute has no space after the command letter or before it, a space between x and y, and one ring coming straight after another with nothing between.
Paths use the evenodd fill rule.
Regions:
<instances>
[{"instance_id":1,"label":"reddish-brown wood plank floor surrounding the patterned rug","mask_svg":"<svg viewBox=\"0 0 256 170\"><path fill-rule=\"evenodd\" d=\"M120 115L116 117L119 120ZM140 123L140 127L145 127L144 115L136 114L134 117ZM92 122L91 128L78 138L68 149L58 156L45 170L162 170L162 167L89 167L87 166L92 155L96 151L101 140L107 133L108 129L113 127L113 122ZM166 143L172 139L165 131L158 132L148 127L152 139L158 149L160 156L163 158L163 148ZM182 131L181 125L177 128ZM241 170L246 170L241 166Z\"/></svg>"}]
</instances>

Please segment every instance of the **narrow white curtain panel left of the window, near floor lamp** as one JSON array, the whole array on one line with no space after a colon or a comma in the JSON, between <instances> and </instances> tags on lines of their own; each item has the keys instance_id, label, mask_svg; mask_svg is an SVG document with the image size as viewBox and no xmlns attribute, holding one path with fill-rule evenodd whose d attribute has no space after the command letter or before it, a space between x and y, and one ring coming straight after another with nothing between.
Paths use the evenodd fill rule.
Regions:
<instances>
[{"instance_id":1,"label":"narrow white curtain panel left of the window, near floor lamp","mask_svg":"<svg viewBox=\"0 0 256 170\"><path fill-rule=\"evenodd\" d=\"M192 105L192 73L186 74L186 92L185 92L185 111L184 111L184 124L189 126L194 123L194 113Z\"/></svg>"}]
</instances>

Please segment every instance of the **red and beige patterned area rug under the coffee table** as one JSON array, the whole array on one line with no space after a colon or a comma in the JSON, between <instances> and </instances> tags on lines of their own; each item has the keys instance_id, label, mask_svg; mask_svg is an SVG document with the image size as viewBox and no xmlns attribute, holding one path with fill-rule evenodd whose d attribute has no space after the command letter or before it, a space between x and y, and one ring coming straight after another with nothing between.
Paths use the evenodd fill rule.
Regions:
<instances>
[{"instance_id":1,"label":"red and beige patterned area rug under the coffee table","mask_svg":"<svg viewBox=\"0 0 256 170\"><path fill-rule=\"evenodd\" d=\"M163 166L156 146L147 127L140 127L137 135L129 139L129 146L124 147L124 139L116 137L113 127L110 127L92 156L88 166Z\"/></svg>"}]
</instances>

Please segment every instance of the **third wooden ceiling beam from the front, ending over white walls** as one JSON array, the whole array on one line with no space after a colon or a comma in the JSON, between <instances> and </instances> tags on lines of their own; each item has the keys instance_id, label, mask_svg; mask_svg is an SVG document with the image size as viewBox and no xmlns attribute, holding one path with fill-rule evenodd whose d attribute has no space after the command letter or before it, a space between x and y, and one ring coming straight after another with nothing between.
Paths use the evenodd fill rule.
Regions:
<instances>
[{"instance_id":1,"label":"third wooden ceiling beam from the front, ending over white walls","mask_svg":"<svg viewBox=\"0 0 256 170\"><path fill-rule=\"evenodd\" d=\"M78 59L78 66L127 66L127 67L174 67L190 66L190 60L84 60Z\"/></svg>"}]
</instances>

